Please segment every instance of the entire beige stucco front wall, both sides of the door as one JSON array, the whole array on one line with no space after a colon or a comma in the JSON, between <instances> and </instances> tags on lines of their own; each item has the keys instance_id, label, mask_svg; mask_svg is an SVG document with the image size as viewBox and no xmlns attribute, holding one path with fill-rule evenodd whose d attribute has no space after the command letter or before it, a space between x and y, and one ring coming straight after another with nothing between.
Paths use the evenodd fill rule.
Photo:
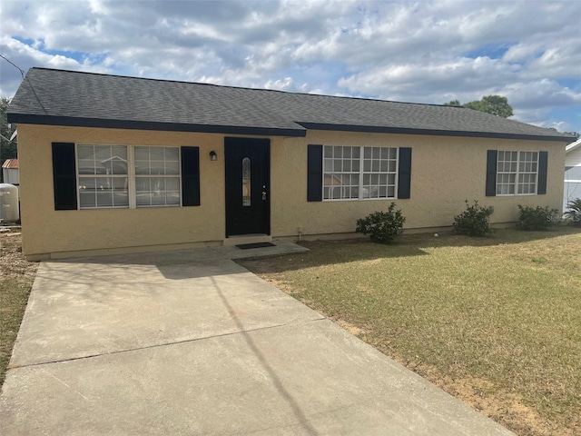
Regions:
<instances>
[{"instance_id":1,"label":"entire beige stucco front wall, both sides of the door","mask_svg":"<svg viewBox=\"0 0 581 436\"><path fill-rule=\"evenodd\" d=\"M222 243L225 234L222 134L148 132L22 124L18 126L24 253L31 257L111 253ZM193 145L200 147L201 206L54 211L51 143ZM351 233L358 218L387 209L390 200L309 203L307 144L412 147L411 198L396 200L408 229L449 226L477 199L495 207L493 223L517 219L517 203L561 207L565 144L501 139L310 131L306 138L271 138L273 238ZM547 194L486 197L487 150L548 154ZM211 150L218 161L211 162Z\"/></svg>"}]
</instances>

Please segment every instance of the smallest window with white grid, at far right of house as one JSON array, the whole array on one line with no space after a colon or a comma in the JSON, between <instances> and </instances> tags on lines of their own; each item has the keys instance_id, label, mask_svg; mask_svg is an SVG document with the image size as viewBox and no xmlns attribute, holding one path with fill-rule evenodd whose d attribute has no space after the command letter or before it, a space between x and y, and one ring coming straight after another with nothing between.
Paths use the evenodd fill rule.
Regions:
<instances>
[{"instance_id":1,"label":"smallest window with white grid, at far right of house","mask_svg":"<svg viewBox=\"0 0 581 436\"><path fill-rule=\"evenodd\" d=\"M497 195L537 193L538 153L499 151Z\"/></svg>"}]
</instances>

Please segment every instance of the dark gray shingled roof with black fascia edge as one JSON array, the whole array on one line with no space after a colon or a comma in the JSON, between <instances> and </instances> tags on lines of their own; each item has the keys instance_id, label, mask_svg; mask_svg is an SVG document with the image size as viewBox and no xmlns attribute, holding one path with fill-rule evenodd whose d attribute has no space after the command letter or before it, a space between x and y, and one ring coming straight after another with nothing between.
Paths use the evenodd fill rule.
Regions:
<instances>
[{"instance_id":1,"label":"dark gray shingled roof with black fascia edge","mask_svg":"<svg viewBox=\"0 0 581 436\"><path fill-rule=\"evenodd\" d=\"M463 107L294 94L32 68L10 123L304 136L307 129L571 142L566 134Z\"/></svg>"}]
</instances>

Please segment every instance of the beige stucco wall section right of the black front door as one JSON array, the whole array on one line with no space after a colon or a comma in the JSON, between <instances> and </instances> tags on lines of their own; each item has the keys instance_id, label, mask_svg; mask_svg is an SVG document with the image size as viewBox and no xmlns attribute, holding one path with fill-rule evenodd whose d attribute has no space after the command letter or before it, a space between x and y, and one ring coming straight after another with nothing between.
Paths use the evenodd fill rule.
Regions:
<instances>
[{"instance_id":1,"label":"beige stucco wall section right of the black front door","mask_svg":"<svg viewBox=\"0 0 581 436\"><path fill-rule=\"evenodd\" d=\"M392 200L306 202L307 148L304 144L372 145L412 148L411 198L395 200L407 229L450 226L470 203L494 206L491 223L517 220L517 203L560 208L565 144L545 141L461 138L404 134L311 131L304 138L275 140L272 173L276 183L292 184L282 198L273 195L272 228L278 235L305 236L353 232L358 218L387 210ZM548 151L546 195L485 196L487 150ZM292 181L292 183L290 183ZM274 188L274 180L273 180ZM281 186L282 188L282 186Z\"/></svg>"}]
</instances>

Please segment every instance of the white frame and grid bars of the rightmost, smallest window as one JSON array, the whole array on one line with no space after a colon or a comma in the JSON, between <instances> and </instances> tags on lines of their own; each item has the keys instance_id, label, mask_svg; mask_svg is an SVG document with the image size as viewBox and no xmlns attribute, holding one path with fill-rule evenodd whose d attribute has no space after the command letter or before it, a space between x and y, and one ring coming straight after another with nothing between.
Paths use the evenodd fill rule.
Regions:
<instances>
[{"instance_id":1,"label":"white frame and grid bars of the rightmost, smallest window","mask_svg":"<svg viewBox=\"0 0 581 436\"><path fill-rule=\"evenodd\" d=\"M510 197L510 196L516 196L516 195L537 195L538 192L538 169L539 169L539 158L540 158L540 154L539 152L536 151L516 151L516 150L498 150L497 152L497 180L496 180L496 194L499 197ZM503 159L502 161L500 161L500 154L503 154L503 157L506 157L506 154L509 153L511 154L517 154L517 160L510 160L507 161L506 159ZM527 160L527 154L531 154L531 160ZM537 156L537 160L533 160L534 156ZM502 163L502 168L500 167L500 164ZM516 169L512 170L511 168L509 168L508 170L505 170L504 165L506 165L507 163L516 163ZM536 170L532 171L531 170L527 170L526 166L527 164L531 165L531 168L533 165L536 165ZM523 169L523 165L525 166L525 168ZM530 185L532 182L530 182L530 180L528 182L521 182L520 178L521 176L530 176L534 174L534 179L535 179L535 192L533 193L519 193L519 188L524 186L524 185ZM503 176L510 176L513 175L514 176L514 181L511 182L499 182L499 180L501 180L502 178L504 178ZM502 193L502 189L500 189L500 192L498 191L499 186L508 186L511 187L513 190L513 193Z\"/></svg>"}]
</instances>

